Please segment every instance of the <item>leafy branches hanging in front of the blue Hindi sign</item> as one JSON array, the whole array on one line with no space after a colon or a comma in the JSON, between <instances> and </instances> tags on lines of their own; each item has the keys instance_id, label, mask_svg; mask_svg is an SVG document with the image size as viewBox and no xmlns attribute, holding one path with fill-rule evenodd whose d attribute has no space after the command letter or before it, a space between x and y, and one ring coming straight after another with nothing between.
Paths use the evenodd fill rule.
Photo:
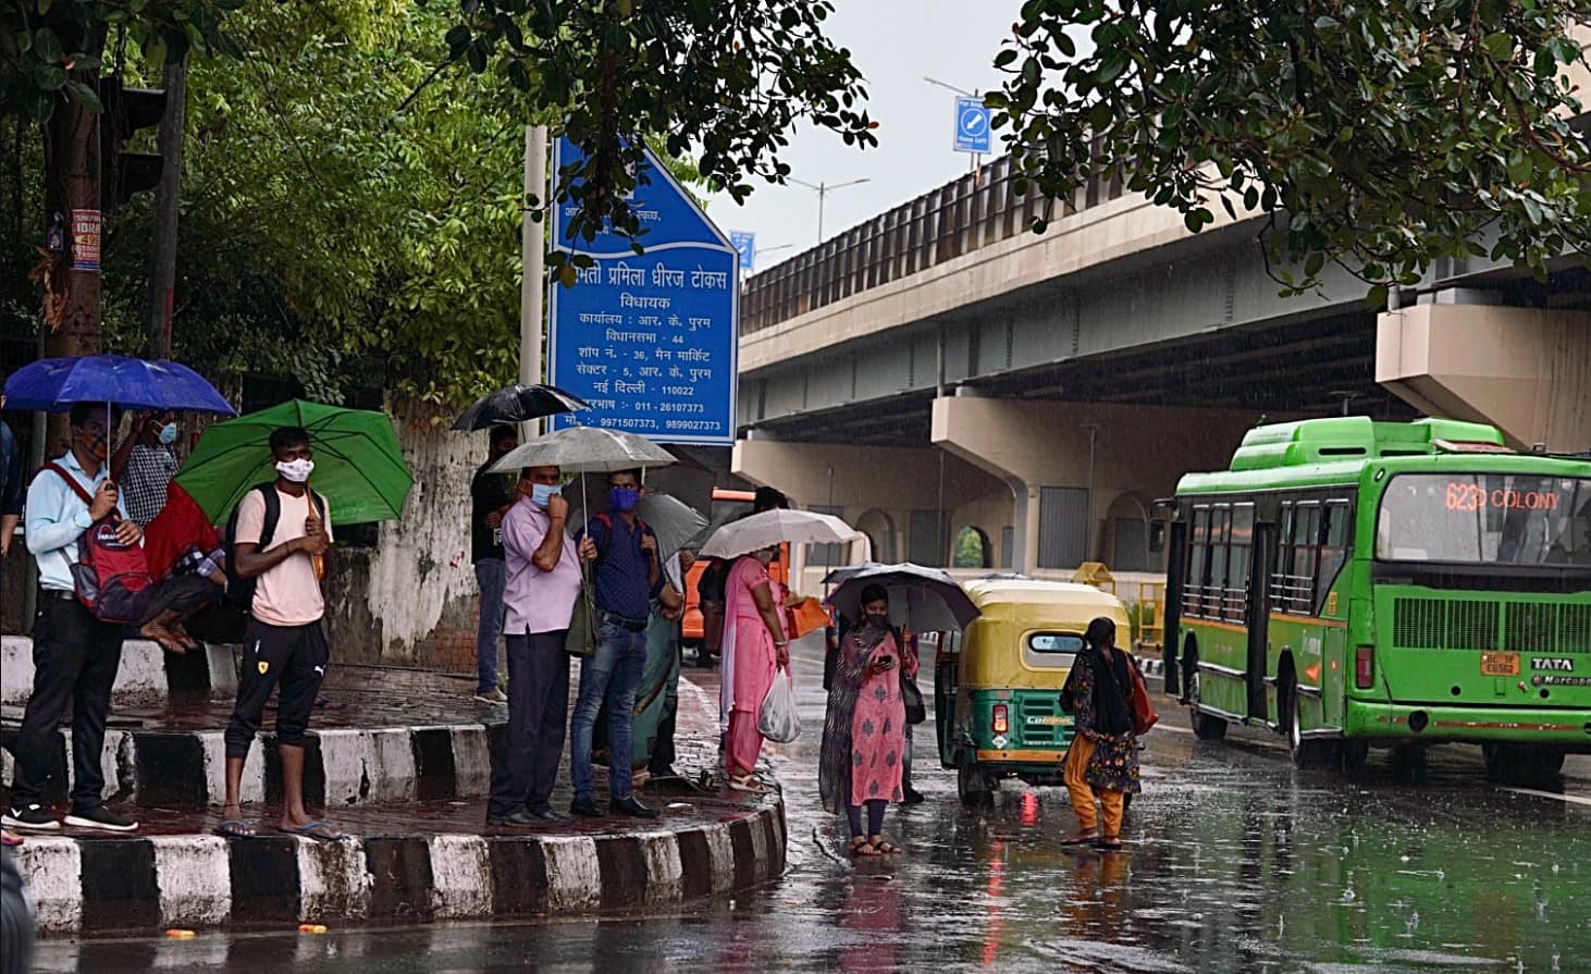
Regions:
<instances>
[{"instance_id":1,"label":"leafy branches hanging in front of the blue Hindi sign","mask_svg":"<svg viewBox=\"0 0 1591 974\"><path fill-rule=\"evenodd\" d=\"M500 67L581 146L555 199L579 207L570 232L587 240L611 224L644 245L625 197L646 137L692 154L735 201L753 178L789 175L778 154L799 121L877 143L861 75L823 33L826 0L460 0L457 11L449 59L476 75ZM563 253L549 266L574 282Z\"/></svg>"}]
</instances>

